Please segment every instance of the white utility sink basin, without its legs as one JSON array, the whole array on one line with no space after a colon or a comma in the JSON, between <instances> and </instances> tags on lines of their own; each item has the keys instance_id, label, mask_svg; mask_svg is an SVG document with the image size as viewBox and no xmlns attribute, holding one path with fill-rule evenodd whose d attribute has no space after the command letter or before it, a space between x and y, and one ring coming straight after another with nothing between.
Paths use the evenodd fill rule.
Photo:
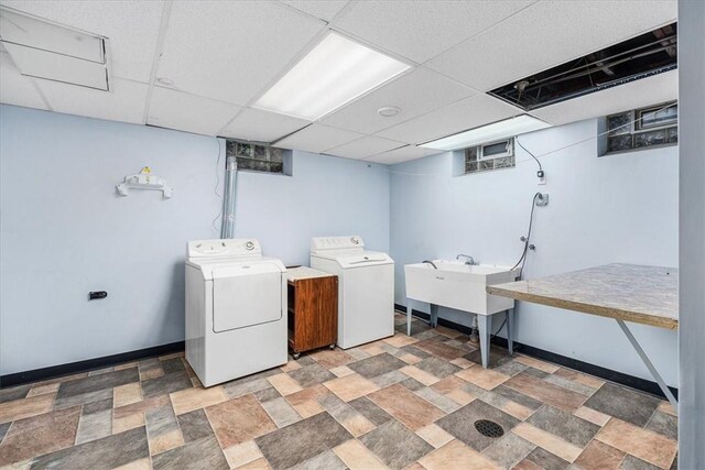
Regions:
<instances>
[{"instance_id":1,"label":"white utility sink basin, without its legs","mask_svg":"<svg viewBox=\"0 0 705 470\"><path fill-rule=\"evenodd\" d=\"M512 282L519 269L495 264L469 265L462 261L434 260L404 265L406 297L458 310L494 315L514 306L514 300L486 292L491 284Z\"/></svg>"}]
</instances>

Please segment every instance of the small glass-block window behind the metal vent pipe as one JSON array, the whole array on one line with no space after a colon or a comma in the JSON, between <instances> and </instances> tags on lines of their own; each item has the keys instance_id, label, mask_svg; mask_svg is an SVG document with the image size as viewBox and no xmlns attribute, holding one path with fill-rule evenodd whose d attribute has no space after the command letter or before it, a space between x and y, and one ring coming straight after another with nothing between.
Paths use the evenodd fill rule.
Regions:
<instances>
[{"instance_id":1,"label":"small glass-block window behind the metal vent pipe","mask_svg":"<svg viewBox=\"0 0 705 470\"><path fill-rule=\"evenodd\" d=\"M235 156L238 171L292 174L291 154L286 149L279 149L265 143L226 140L227 156Z\"/></svg>"}]
</instances>

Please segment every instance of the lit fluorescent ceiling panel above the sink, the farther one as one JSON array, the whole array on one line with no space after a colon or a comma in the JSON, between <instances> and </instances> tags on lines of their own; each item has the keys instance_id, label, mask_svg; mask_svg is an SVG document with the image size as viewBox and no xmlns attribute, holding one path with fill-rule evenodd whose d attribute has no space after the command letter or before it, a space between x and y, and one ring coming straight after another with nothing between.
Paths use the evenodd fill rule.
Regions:
<instances>
[{"instance_id":1,"label":"lit fluorescent ceiling panel above the sink, the farther one","mask_svg":"<svg viewBox=\"0 0 705 470\"><path fill-rule=\"evenodd\" d=\"M447 138L426 142L419 146L437 150L458 150L481 143L498 141L514 135L525 134L527 132L538 131L539 129L550 128L551 124L536 119L532 116L521 114L516 118L505 119L503 121L482 125L480 128L470 129Z\"/></svg>"}]
</instances>

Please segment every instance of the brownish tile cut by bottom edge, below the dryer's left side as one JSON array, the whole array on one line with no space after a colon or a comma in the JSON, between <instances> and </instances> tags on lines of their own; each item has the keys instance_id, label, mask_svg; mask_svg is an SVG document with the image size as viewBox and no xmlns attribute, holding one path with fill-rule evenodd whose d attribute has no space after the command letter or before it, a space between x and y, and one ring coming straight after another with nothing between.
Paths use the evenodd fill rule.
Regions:
<instances>
[{"instance_id":1,"label":"brownish tile cut by bottom edge, below the dryer's left side","mask_svg":"<svg viewBox=\"0 0 705 470\"><path fill-rule=\"evenodd\" d=\"M225 470L230 467L216 438L204 437L152 457L152 468L154 470Z\"/></svg>"}]
</instances>

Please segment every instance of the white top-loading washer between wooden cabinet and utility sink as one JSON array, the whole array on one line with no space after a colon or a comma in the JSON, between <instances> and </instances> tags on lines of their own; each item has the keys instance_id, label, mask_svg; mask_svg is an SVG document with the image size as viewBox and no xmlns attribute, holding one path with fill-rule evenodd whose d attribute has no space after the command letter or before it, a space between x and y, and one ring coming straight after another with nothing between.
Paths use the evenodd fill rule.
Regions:
<instances>
[{"instance_id":1,"label":"white top-loading washer between wooden cabinet and utility sink","mask_svg":"<svg viewBox=\"0 0 705 470\"><path fill-rule=\"evenodd\" d=\"M338 276L338 346L394 335L394 261L365 250L360 237L311 240L311 267Z\"/></svg>"}]
</instances>

